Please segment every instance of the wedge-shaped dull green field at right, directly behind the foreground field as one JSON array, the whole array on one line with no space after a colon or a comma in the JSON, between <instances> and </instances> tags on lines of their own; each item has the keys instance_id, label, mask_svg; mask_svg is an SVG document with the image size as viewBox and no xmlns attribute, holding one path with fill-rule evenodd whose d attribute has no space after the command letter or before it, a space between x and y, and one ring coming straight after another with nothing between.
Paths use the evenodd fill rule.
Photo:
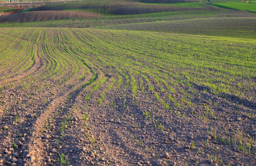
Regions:
<instances>
[{"instance_id":1,"label":"wedge-shaped dull green field at right, directly behind the foreground field","mask_svg":"<svg viewBox=\"0 0 256 166\"><path fill-rule=\"evenodd\" d=\"M113 25L101 27L101 29L141 30L256 39L256 17L174 20L154 23Z\"/></svg>"}]
</instances>

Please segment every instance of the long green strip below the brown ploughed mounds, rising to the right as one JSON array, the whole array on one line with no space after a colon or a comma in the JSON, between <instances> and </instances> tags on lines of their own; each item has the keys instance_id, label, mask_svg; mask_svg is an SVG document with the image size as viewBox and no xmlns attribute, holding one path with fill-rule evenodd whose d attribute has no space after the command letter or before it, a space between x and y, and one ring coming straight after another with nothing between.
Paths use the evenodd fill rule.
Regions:
<instances>
[{"instance_id":1,"label":"long green strip below the brown ploughed mounds, rising to the right","mask_svg":"<svg viewBox=\"0 0 256 166\"><path fill-rule=\"evenodd\" d=\"M47 11L45 12L47 13ZM18 18L20 14L18 13ZM27 12L24 15L29 15ZM184 12L161 12L161 13L150 13L150 14L139 14L139 15L121 15L121 16L104 16L99 18L72 18L72 19L60 19L56 21L40 21L32 22L32 19L23 18L20 21L26 21L26 23L19 23L12 19L14 16L6 16L5 20L2 19L0 27L73 27L73 28L88 28L88 27L100 27L117 24L134 24L134 23L145 23L145 22L157 22L157 21L170 21L170 20L182 20L191 18L214 18L214 17L255 17L256 14L246 11L234 11L228 9L219 9L214 11L198 10L198 11L184 11ZM45 15L41 15L40 19L46 18ZM36 18L39 20L39 18ZM52 19L50 17L49 19ZM8 21L9 24L4 21ZM11 23L11 20L15 23Z\"/></svg>"}]
</instances>

